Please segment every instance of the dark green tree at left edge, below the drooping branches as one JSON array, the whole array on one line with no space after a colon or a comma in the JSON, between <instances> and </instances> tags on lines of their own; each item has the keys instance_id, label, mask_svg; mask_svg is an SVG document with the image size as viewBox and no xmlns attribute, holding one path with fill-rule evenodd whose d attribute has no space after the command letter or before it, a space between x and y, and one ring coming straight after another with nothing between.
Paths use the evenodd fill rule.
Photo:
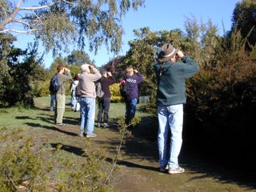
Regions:
<instances>
[{"instance_id":1,"label":"dark green tree at left edge, below the drooping branches","mask_svg":"<svg viewBox=\"0 0 256 192\"><path fill-rule=\"evenodd\" d=\"M33 106L33 96L38 94L38 85L45 78L42 58L38 58L38 45L29 45L26 50L21 50L0 42L2 55L0 63L6 66L6 72L1 77L0 107L14 106L23 103ZM7 44L7 43L6 43Z\"/></svg>"}]
</instances>

